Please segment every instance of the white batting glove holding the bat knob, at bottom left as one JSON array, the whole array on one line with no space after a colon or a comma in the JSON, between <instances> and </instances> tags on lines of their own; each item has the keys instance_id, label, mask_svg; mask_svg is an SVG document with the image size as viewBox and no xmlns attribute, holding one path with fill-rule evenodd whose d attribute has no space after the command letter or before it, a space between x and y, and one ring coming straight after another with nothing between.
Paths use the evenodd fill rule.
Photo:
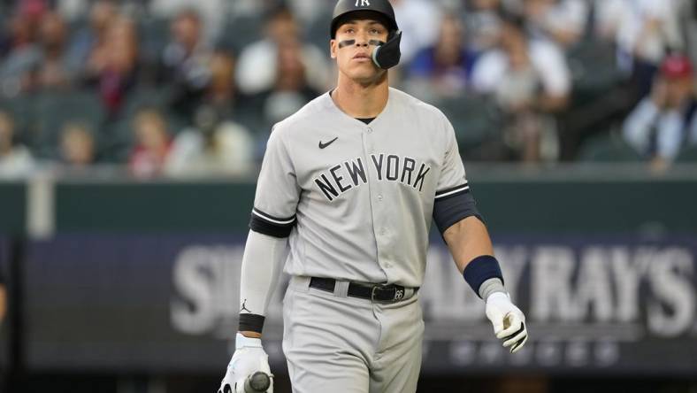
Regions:
<instances>
[{"instance_id":1,"label":"white batting glove holding the bat knob, at bottom left","mask_svg":"<svg viewBox=\"0 0 697 393\"><path fill-rule=\"evenodd\" d=\"M236 393L245 392L244 382L249 375L257 373L257 371L273 377L271 367L269 367L269 356L264 351L260 338L245 337L238 333L234 340L235 351L230 364L227 365L227 371L223 381L220 382L218 393ZM249 390L249 393L256 390ZM273 393L273 378L271 378L271 386L266 390L266 393Z\"/></svg>"}]
</instances>

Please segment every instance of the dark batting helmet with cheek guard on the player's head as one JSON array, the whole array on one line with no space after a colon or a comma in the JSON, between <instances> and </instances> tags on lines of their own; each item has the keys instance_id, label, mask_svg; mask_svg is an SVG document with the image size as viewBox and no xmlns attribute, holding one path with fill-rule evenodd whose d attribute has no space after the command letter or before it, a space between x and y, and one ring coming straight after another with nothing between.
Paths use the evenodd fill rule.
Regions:
<instances>
[{"instance_id":1,"label":"dark batting helmet with cheek guard on the player's head","mask_svg":"<svg viewBox=\"0 0 697 393\"><path fill-rule=\"evenodd\" d=\"M350 13L365 11L377 12L379 20L389 30L387 42L371 42L376 44L376 48L372 52L372 62L384 70L392 68L399 64L402 57L399 48L400 42L402 42L402 31L397 26L392 4L388 0L339 0L334 7L329 34L334 39L342 20L345 20Z\"/></svg>"}]
</instances>

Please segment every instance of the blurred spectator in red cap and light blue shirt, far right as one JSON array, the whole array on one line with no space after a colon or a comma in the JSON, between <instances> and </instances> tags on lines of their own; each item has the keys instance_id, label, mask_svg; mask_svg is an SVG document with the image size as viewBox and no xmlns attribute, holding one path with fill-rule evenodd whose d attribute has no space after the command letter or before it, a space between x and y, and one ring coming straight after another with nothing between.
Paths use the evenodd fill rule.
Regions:
<instances>
[{"instance_id":1,"label":"blurred spectator in red cap and light blue shirt, far right","mask_svg":"<svg viewBox=\"0 0 697 393\"><path fill-rule=\"evenodd\" d=\"M624 121L624 139L657 171L665 169L681 148L697 143L693 82L689 58L668 56L655 77L651 94Z\"/></svg>"}]
</instances>

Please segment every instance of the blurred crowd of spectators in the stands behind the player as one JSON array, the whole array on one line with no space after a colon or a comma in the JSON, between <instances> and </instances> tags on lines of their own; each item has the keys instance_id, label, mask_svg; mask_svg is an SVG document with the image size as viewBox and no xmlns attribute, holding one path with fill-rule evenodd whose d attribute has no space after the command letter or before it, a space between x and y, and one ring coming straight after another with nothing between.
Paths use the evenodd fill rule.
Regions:
<instances>
[{"instance_id":1,"label":"blurred crowd of spectators in the stands behind the player","mask_svg":"<svg viewBox=\"0 0 697 393\"><path fill-rule=\"evenodd\" d=\"M0 176L253 173L332 88L333 0L0 0ZM697 161L691 0L394 0L467 161Z\"/></svg>"}]
</instances>

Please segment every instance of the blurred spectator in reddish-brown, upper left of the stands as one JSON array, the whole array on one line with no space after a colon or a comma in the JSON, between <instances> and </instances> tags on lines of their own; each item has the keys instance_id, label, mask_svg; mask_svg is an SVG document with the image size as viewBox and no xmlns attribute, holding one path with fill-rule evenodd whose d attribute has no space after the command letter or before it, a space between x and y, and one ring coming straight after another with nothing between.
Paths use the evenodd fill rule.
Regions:
<instances>
[{"instance_id":1,"label":"blurred spectator in reddish-brown, upper left of the stands","mask_svg":"<svg viewBox=\"0 0 697 393\"><path fill-rule=\"evenodd\" d=\"M138 82L138 36L134 22L119 16L109 23L104 42L93 48L84 77L99 91L111 117L119 115L126 96Z\"/></svg>"}]
</instances>

